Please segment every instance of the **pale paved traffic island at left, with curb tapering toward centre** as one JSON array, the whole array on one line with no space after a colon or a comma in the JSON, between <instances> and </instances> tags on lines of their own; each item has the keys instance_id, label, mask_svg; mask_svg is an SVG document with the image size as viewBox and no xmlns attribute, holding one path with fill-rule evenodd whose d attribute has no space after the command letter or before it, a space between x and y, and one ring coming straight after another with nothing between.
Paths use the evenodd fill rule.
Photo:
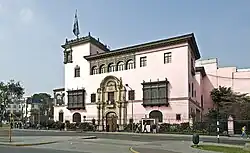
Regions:
<instances>
[{"instance_id":1,"label":"pale paved traffic island at left, with curb tapering toward centre","mask_svg":"<svg viewBox=\"0 0 250 153\"><path fill-rule=\"evenodd\" d=\"M12 142L1 141L0 145L11 145L11 146L34 146L57 143L62 141L68 141L73 139L94 139L95 136L82 136L82 137L71 137L71 136L25 136L25 137L12 137Z\"/></svg>"}]
</instances>

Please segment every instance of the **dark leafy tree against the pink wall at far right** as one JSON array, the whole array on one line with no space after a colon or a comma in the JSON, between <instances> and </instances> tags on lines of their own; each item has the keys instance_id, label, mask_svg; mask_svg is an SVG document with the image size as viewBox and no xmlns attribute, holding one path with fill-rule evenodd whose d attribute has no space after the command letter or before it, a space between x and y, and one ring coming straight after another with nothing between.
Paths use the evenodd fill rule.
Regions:
<instances>
[{"instance_id":1,"label":"dark leafy tree against the pink wall at far right","mask_svg":"<svg viewBox=\"0 0 250 153\"><path fill-rule=\"evenodd\" d=\"M246 106L250 108L250 98L247 94L236 93L230 87L219 86L219 88L214 88L210 95L217 108L210 110L207 114L210 119L216 119L217 115L221 119L227 119L229 115L233 115L237 119L250 117L246 109ZM240 113L239 110L241 110Z\"/></svg>"}]
</instances>

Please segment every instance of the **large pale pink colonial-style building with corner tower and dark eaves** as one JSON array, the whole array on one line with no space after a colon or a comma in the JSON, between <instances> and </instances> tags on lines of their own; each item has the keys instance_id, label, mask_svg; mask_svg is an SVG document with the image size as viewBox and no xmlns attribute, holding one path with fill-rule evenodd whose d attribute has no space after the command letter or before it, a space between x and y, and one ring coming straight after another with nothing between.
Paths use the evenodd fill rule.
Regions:
<instances>
[{"instance_id":1,"label":"large pale pink colonial-style building with corner tower and dark eaves","mask_svg":"<svg viewBox=\"0 0 250 153\"><path fill-rule=\"evenodd\" d=\"M54 90L56 121L95 119L99 129L110 131L122 130L131 119L200 121L213 107L209 92L218 83L249 91L242 88L244 83L213 77L218 73L245 77L249 73L217 69L217 60L199 60L194 34L116 50L89 35L66 40L62 48L65 85Z\"/></svg>"}]
</instances>

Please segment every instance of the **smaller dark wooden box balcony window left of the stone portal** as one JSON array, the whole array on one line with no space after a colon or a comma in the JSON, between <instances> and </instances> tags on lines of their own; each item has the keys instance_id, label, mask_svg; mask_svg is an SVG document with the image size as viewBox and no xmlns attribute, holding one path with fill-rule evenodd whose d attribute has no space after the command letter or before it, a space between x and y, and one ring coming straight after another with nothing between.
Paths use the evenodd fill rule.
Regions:
<instances>
[{"instance_id":1,"label":"smaller dark wooden box balcony window left of the stone portal","mask_svg":"<svg viewBox=\"0 0 250 153\"><path fill-rule=\"evenodd\" d=\"M85 90L72 90L68 92L68 109L85 108Z\"/></svg>"}]
</instances>

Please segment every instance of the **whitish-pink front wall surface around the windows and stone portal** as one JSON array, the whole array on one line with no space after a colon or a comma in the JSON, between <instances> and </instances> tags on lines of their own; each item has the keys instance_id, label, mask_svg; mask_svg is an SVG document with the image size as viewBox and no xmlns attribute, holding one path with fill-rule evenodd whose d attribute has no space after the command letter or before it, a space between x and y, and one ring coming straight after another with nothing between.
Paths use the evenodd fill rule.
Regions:
<instances>
[{"instance_id":1,"label":"whitish-pink front wall surface around the windows and stone portal","mask_svg":"<svg viewBox=\"0 0 250 153\"><path fill-rule=\"evenodd\" d=\"M172 122L176 118L176 114L181 114L182 119L188 121L189 116L189 104L188 100L171 100L175 98L186 98L188 94L188 44L179 44L174 46L168 46L165 48L159 48L157 50L146 50L136 53L135 69L116 71L103 74L90 75L90 63L84 56L90 55L90 53L103 52L98 47L86 43L72 47L72 59L73 63L65 64L65 90L81 89L86 90L86 110L68 110L67 106L67 92L65 92L65 106L55 107L54 119L59 119L59 112L64 112L64 121L72 121L72 115L75 112L79 112L81 116L86 116L87 119L97 118L97 106L90 102L91 94L96 93L100 87L101 81L108 75L116 76L118 79L122 78L123 84L129 84L129 86L135 90L134 102L134 118L139 120L148 114L152 110L160 110L163 114L164 122ZM172 53L172 62L164 64L164 53ZM147 66L140 67L140 57L147 56ZM115 58L115 57L114 57ZM76 65L80 66L80 77L74 77L74 68ZM142 104L142 85L143 80L146 82L162 81L165 78L169 81L169 107L146 107ZM132 104L128 104L128 118L130 118L132 112ZM82 117L83 120L83 117Z\"/></svg>"}]
</instances>

